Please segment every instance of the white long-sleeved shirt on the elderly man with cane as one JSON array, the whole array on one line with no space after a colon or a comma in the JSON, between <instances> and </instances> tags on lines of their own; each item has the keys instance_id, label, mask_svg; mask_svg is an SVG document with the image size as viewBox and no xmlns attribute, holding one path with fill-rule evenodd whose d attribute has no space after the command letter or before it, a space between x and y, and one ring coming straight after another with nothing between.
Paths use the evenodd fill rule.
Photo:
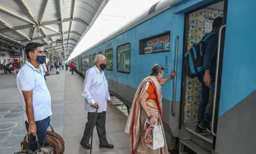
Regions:
<instances>
[{"instance_id":1,"label":"white long-sleeved shirt on the elderly man with cane","mask_svg":"<svg viewBox=\"0 0 256 154\"><path fill-rule=\"evenodd\" d=\"M107 101L110 100L108 81L103 71L94 66L86 71L82 97L85 98L85 110L95 112L94 103L99 105L98 112L108 110Z\"/></svg>"}]
</instances>

